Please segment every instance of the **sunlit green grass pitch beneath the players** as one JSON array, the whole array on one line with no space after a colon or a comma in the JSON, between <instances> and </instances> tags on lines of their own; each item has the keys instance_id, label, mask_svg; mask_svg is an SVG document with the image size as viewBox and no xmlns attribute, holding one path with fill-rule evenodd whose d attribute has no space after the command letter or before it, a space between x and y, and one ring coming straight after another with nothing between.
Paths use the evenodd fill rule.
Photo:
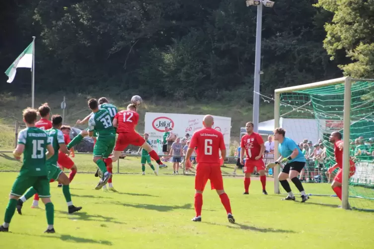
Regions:
<instances>
[{"instance_id":1,"label":"sunlit green grass pitch beneath the players","mask_svg":"<svg viewBox=\"0 0 374 249\"><path fill-rule=\"evenodd\" d=\"M0 153L0 170L19 169L19 162L9 157ZM95 169L89 155L76 155L74 160L81 171ZM120 167L123 172L141 172L136 158L122 160ZM24 204L23 215L14 214L10 232L0 234L0 248L371 249L374 245L373 213L339 209L338 198L332 197L311 196L306 203L281 201L282 196L272 194L272 181L268 181L266 196L254 177L249 195L242 195L241 178L224 178L236 224L228 223L210 184L203 195L203 221L194 223L194 178L156 177L150 168L146 172L146 176L115 174L113 185L119 193L94 190L98 179L93 174L78 173L71 192L73 203L83 209L73 215L67 213L62 189L52 183L57 233L43 234L47 226L45 211L29 208L30 199ZM171 172L170 165L164 172ZM17 173L1 172L0 176L3 215ZM291 187L296 192L295 186ZM327 184L308 184L305 189L332 193Z\"/></svg>"}]
</instances>

